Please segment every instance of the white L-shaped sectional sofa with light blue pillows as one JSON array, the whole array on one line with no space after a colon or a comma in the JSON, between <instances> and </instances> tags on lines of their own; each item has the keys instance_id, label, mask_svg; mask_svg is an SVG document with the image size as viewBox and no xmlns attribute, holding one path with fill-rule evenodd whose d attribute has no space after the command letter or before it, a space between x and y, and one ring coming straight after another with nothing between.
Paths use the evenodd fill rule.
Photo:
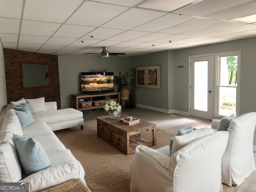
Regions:
<instances>
[{"instance_id":1,"label":"white L-shaped sectional sofa with light blue pillows","mask_svg":"<svg viewBox=\"0 0 256 192\"><path fill-rule=\"evenodd\" d=\"M78 111L78 115L74 115L77 120L68 119L73 109L60 112L56 110L56 102L46 102L45 106L47 111L33 114L35 122L23 129L13 104L10 103L2 108L0 115L1 182L29 182L30 192L39 192L73 178L80 178L86 184L84 168L53 132L62 128L82 126L83 118L79 117L82 112ZM47 154L51 166L30 175L25 174L14 146L13 134L38 141Z\"/></svg>"}]
</instances>

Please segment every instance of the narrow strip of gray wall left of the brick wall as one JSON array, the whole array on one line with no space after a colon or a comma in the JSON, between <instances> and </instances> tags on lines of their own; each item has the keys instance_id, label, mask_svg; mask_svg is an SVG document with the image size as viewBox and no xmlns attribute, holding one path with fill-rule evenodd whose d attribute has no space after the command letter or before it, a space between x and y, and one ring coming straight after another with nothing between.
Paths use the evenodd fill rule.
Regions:
<instances>
[{"instance_id":1,"label":"narrow strip of gray wall left of the brick wall","mask_svg":"<svg viewBox=\"0 0 256 192\"><path fill-rule=\"evenodd\" d=\"M2 106L7 104L6 81L4 71L4 50L0 41L0 114Z\"/></svg>"}]
</instances>

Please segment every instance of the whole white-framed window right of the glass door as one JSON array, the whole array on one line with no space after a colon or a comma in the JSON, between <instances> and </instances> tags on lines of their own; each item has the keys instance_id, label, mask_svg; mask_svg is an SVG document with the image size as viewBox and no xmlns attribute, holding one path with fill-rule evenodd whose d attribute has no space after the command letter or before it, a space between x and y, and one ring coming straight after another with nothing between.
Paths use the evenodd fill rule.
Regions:
<instances>
[{"instance_id":1,"label":"whole white-framed window right of the glass door","mask_svg":"<svg viewBox=\"0 0 256 192\"><path fill-rule=\"evenodd\" d=\"M239 109L240 51L217 53L216 116L237 114Z\"/></svg>"}]
</instances>

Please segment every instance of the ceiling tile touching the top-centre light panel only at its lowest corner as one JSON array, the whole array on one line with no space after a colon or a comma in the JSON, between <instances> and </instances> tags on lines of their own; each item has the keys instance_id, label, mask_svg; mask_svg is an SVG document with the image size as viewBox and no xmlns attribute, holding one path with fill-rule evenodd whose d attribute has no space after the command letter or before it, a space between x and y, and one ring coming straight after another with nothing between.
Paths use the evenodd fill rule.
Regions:
<instances>
[{"instance_id":1,"label":"ceiling tile touching the top-centre light panel only at its lowest corner","mask_svg":"<svg viewBox=\"0 0 256 192\"><path fill-rule=\"evenodd\" d=\"M133 28L133 30L157 32L194 19L195 18L192 16L184 16L170 13L146 24Z\"/></svg>"}]
</instances>

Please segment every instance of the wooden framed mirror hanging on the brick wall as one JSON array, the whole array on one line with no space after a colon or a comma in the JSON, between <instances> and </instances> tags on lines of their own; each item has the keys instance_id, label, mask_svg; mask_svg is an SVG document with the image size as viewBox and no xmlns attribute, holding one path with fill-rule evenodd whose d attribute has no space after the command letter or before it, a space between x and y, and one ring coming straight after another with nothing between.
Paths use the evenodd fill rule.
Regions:
<instances>
[{"instance_id":1,"label":"wooden framed mirror hanging on the brick wall","mask_svg":"<svg viewBox=\"0 0 256 192\"><path fill-rule=\"evenodd\" d=\"M50 86L47 63L20 62L22 89Z\"/></svg>"}]
</instances>

